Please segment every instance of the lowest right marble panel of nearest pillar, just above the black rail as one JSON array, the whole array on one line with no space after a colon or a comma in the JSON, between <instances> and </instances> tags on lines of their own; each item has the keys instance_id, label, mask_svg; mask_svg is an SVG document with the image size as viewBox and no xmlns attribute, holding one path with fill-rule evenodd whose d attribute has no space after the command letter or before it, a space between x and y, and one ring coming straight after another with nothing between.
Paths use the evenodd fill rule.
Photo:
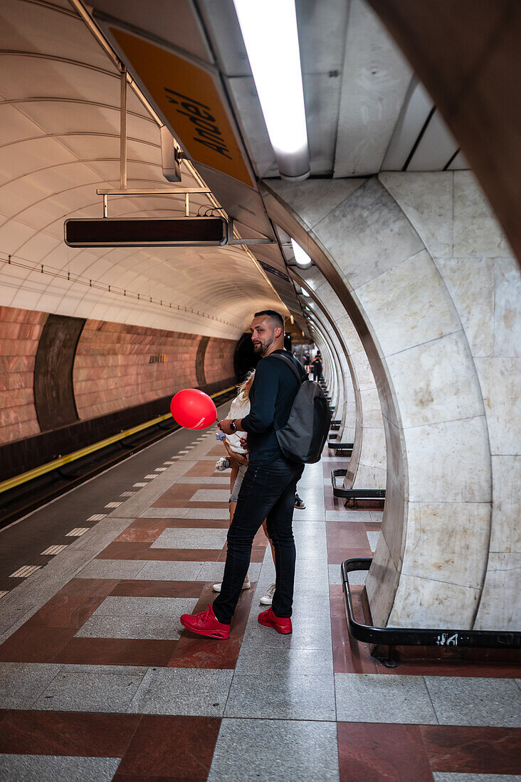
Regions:
<instances>
[{"instance_id":1,"label":"lowest right marble panel of nearest pillar, just above the black rail","mask_svg":"<svg viewBox=\"0 0 521 782\"><path fill-rule=\"evenodd\" d=\"M521 631L521 554L490 554L474 628Z\"/></svg>"}]
</instances>

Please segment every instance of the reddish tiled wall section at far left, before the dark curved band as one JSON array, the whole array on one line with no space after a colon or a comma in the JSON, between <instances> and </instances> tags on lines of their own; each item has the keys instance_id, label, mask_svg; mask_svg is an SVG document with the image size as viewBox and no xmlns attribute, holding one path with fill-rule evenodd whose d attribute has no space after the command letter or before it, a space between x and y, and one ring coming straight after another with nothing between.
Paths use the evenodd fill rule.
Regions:
<instances>
[{"instance_id":1,"label":"reddish tiled wall section at far left, before the dark curved band","mask_svg":"<svg viewBox=\"0 0 521 782\"><path fill-rule=\"evenodd\" d=\"M34 409L34 358L45 312L0 307L0 443L40 431Z\"/></svg>"}]
</instances>

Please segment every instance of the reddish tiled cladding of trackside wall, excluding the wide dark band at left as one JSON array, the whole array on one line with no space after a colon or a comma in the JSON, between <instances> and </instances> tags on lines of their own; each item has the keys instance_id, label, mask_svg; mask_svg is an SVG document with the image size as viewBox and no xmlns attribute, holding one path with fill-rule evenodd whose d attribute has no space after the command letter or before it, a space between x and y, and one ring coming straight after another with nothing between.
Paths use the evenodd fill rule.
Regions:
<instances>
[{"instance_id":1,"label":"reddish tiled cladding of trackside wall, excluding the wide dark band at left","mask_svg":"<svg viewBox=\"0 0 521 782\"><path fill-rule=\"evenodd\" d=\"M0 444L41 432L34 406L34 366L48 318L45 312L0 307ZM67 318L62 320L66 328ZM69 320L71 324L77 321ZM231 386L235 382L234 350L233 339L86 321L74 364L71 355L71 404L75 401L82 421L158 400L163 400L166 411L168 396L179 389L203 386L213 393ZM148 407L143 407L143 414L145 410ZM45 429L53 431L63 425L59 415L54 418ZM73 444L81 447L81 443Z\"/></svg>"}]
</instances>

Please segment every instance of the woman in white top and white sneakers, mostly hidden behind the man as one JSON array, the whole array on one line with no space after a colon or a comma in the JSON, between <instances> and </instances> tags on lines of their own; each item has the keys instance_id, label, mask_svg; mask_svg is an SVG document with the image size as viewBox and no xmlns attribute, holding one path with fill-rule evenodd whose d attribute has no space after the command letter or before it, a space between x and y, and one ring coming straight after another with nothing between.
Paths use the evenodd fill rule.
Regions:
<instances>
[{"instance_id":1,"label":"woman in white top and white sneakers, mostly hidden behind the man","mask_svg":"<svg viewBox=\"0 0 521 782\"><path fill-rule=\"evenodd\" d=\"M237 418L237 420L240 420L241 418L245 418L245 416L248 415L250 411L249 393L251 389L251 383L253 382L253 378L255 378L255 369L252 369L250 372L248 372L248 375L244 379L244 382L242 382L241 385L238 386L237 396L235 397L235 399L231 404L228 418ZM244 475L246 474L246 470L248 469L248 450L246 450L241 443L241 439L246 439L246 437L247 437L246 432L237 431L237 432L233 432L233 434L231 435L226 435L225 438L223 439L224 447L228 452L230 468L231 468L230 524L233 519L233 514L235 513L235 508L237 507L237 498L239 497L241 484L244 479ZM219 459L219 462L222 461L223 461L222 459ZM266 519L262 522L262 529L264 530L264 534L266 535L267 539L270 541L271 555L273 557L273 562L274 562L275 552L273 551L273 543L271 542L270 536L268 535L268 530L266 529ZM244 584L242 588L249 589L250 586L251 586L250 579L248 574L246 574L246 578L244 579ZM261 603L263 605L271 604L271 601L273 599L273 593L275 591L274 587L275 584L272 584L272 586L267 591L267 593L263 597L261 597ZM221 591L220 583L214 584L213 590L215 592L220 592Z\"/></svg>"}]
</instances>

